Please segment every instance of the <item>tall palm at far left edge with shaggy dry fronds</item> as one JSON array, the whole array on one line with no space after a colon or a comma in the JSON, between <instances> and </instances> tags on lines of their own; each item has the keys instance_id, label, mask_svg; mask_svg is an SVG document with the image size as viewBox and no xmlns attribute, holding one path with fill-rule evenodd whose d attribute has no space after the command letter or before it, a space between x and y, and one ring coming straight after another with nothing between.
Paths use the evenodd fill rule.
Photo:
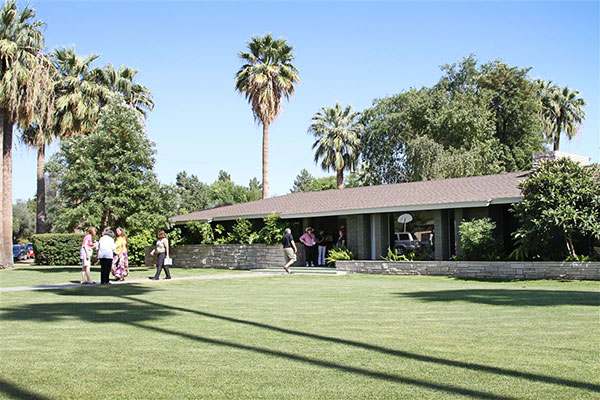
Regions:
<instances>
[{"instance_id":1,"label":"tall palm at far left edge with shaggy dry fronds","mask_svg":"<svg viewBox=\"0 0 600 400\"><path fill-rule=\"evenodd\" d=\"M0 126L2 127L2 218L0 268L11 267L12 260L12 135L20 129L38 125L52 112L52 65L44 47L41 21L35 11L21 12L14 0L0 10Z\"/></svg>"}]
</instances>

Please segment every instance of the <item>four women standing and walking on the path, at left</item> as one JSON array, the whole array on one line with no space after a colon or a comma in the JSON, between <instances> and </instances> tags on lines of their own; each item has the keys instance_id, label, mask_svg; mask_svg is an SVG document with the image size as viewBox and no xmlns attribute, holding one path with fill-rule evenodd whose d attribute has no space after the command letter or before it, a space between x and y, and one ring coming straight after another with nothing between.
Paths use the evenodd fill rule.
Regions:
<instances>
[{"instance_id":1,"label":"four women standing and walking on the path, at left","mask_svg":"<svg viewBox=\"0 0 600 400\"><path fill-rule=\"evenodd\" d=\"M116 228L115 231L110 228L104 229L99 241L94 242L94 236L96 236L96 228L90 227L81 243L79 253L82 266L81 283L84 285L96 283L90 277L90 266L94 250L98 251L98 260L100 261L100 284L110 284L111 273L116 280L125 280L129 275L129 261L127 259L127 236L123 228ZM151 252L152 255L156 255L157 269L156 274L150 279L158 280L163 269L165 270L166 279L171 279L169 267L165 265L165 260L169 258L169 240L163 230L158 231L157 236L156 247Z\"/></svg>"}]
</instances>

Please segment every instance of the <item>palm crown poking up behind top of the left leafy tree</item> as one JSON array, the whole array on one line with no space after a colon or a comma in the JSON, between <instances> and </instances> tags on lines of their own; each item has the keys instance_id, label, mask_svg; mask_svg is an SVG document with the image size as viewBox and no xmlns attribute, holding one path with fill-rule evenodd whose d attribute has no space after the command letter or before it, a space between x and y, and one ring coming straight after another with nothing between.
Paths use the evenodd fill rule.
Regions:
<instances>
[{"instance_id":1,"label":"palm crown poking up behind top of the left leafy tree","mask_svg":"<svg viewBox=\"0 0 600 400\"><path fill-rule=\"evenodd\" d=\"M112 65L107 65L102 69L95 69L92 75L96 82L106 89L109 93L119 93L130 107L132 107L140 120L145 120L148 112L154 109L154 101L152 100L152 92L145 86L133 83L138 71L121 66L118 70ZM102 105L109 102L108 96L102 99Z\"/></svg>"}]
</instances>

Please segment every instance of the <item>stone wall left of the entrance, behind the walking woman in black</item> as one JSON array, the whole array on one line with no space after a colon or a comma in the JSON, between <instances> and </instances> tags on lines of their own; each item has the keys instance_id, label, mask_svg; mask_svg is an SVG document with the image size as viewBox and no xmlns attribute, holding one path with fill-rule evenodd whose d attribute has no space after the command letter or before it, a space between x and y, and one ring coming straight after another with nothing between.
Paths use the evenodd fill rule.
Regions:
<instances>
[{"instance_id":1,"label":"stone wall left of the entrance, behind the walking woman in black","mask_svg":"<svg viewBox=\"0 0 600 400\"><path fill-rule=\"evenodd\" d=\"M156 261L150 256L153 247L146 248L146 265L154 265ZM190 244L171 249L173 266L181 268L228 268L228 269L260 269L281 267L283 261L282 246L256 244ZM298 246L298 260L304 260L303 246ZM298 262L296 263L298 264Z\"/></svg>"}]
</instances>

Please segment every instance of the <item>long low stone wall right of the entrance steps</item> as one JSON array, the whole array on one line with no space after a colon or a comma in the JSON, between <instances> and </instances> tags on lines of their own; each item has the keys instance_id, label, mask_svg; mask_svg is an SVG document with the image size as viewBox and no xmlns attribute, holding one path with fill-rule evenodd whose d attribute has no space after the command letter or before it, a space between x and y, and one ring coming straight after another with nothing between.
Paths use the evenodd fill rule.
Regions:
<instances>
[{"instance_id":1,"label":"long low stone wall right of the entrance steps","mask_svg":"<svg viewBox=\"0 0 600 400\"><path fill-rule=\"evenodd\" d=\"M600 262L337 261L338 271L491 279L600 280Z\"/></svg>"}]
</instances>

